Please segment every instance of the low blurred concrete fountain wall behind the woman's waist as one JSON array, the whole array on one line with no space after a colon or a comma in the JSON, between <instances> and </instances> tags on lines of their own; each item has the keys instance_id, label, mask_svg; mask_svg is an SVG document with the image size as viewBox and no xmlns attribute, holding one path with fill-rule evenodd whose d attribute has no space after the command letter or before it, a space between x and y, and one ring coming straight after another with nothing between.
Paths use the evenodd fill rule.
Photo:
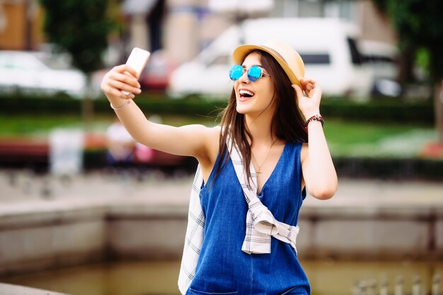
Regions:
<instances>
[{"instance_id":1,"label":"low blurred concrete fountain wall behind the woman's waist","mask_svg":"<svg viewBox=\"0 0 443 295\"><path fill-rule=\"evenodd\" d=\"M443 192L443 191L442 191ZM443 198L443 193L442 193ZM180 259L188 199L35 200L0 207L0 277L112 259ZM443 206L306 199L306 258L443 258Z\"/></svg>"}]
</instances>

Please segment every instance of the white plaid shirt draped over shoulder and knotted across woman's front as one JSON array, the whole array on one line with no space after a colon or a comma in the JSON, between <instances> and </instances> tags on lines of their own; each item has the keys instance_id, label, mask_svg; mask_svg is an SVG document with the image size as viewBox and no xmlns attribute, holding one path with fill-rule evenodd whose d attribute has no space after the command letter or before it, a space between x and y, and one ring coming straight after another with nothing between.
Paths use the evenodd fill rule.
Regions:
<instances>
[{"instance_id":1,"label":"white plaid shirt draped over shoulder and knotted across woman's front","mask_svg":"<svg viewBox=\"0 0 443 295\"><path fill-rule=\"evenodd\" d=\"M248 182L238 147L234 146L234 148L232 148L229 137L226 140L226 144L230 151L231 161L234 164L238 181L243 189L243 195L248 204L246 235L241 250L248 254L271 253L271 236L273 236L284 243L289 243L297 252L296 238L299 233L299 227L289 226L288 224L275 220L269 209L267 209L257 197L257 176L252 163L251 179ZM188 227L186 229L180 274L178 275L178 288L182 294L186 293L192 279L195 277L197 261L203 243L205 214L203 214L200 204L200 190L202 185L203 176L199 165L195 173L190 194Z\"/></svg>"}]
</instances>

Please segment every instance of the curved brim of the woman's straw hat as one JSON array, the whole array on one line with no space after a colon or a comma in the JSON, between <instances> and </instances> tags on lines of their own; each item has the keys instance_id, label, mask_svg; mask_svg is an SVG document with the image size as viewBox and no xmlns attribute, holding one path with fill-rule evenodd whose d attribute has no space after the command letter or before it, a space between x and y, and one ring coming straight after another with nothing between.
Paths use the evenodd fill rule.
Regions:
<instances>
[{"instance_id":1,"label":"curved brim of the woman's straw hat","mask_svg":"<svg viewBox=\"0 0 443 295\"><path fill-rule=\"evenodd\" d=\"M240 45L236 47L234 52L232 52L232 59L234 60L234 64L241 64L245 59L246 55L253 50L263 50L274 57L274 59L282 66L283 71L287 74L289 81L292 84L297 84L301 87L301 83L299 78L294 74L294 71L289 67L289 65L282 59L280 54L277 54L270 47L260 46L260 45ZM301 78L301 77L300 77Z\"/></svg>"}]
</instances>

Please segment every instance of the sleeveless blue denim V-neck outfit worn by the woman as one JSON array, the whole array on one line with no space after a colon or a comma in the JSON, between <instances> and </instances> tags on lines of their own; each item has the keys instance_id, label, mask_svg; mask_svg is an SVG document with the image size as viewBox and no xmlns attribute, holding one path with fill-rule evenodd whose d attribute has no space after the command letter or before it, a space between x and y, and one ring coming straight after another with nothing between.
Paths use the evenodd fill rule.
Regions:
<instances>
[{"instance_id":1,"label":"sleeveless blue denim V-neck outfit worn by the woman","mask_svg":"<svg viewBox=\"0 0 443 295\"><path fill-rule=\"evenodd\" d=\"M301 190L301 144L287 143L258 197L275 219L297 225L306 191ZM217 161L220 161L218 158ZM200 192L206 217L197 270L187 295L310 294L308 278L295 250L271 238L270 254L243 253L248 207L229 159L214 180L217 163Z\"/></svg>"}]
</instances>

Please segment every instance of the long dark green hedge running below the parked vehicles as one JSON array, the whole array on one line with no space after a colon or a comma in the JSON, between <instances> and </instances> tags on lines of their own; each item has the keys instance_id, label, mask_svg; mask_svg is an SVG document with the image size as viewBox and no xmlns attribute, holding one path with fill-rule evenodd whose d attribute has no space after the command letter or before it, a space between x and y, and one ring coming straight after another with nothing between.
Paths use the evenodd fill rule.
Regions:
<instances>
[{"instance_id":1,"label":"long dark green hedge running below the parked vehicles","mask_svg":"<svg viewBox=\"0 0 443 295\"><path fill-rule=\"evenodd\" d=\"M0 94L0 113L23 114L75 114L81 112L81 100L67 96L24 96ZM104 97L93 100L98 114L112 114L108 100ZM226 105L226 100L187 98L173 100L166 96L139 96L139 105L144 112L178 115L217 116ZM431 101L404 102L400 99L372 100L358 103L343 98L323 98L321 113L325 117L343 120L411 122L424 125L434 124L434 108Z\"/></svg>"}]
</instances>

